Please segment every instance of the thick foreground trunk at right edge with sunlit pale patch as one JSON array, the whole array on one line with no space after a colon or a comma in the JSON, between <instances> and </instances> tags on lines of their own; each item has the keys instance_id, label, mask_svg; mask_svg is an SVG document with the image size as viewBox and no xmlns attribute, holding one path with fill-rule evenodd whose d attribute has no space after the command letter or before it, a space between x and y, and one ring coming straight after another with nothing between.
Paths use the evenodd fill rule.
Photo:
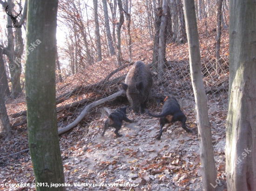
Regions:
<instances>
[{"instance_id":1,"label":"thick foreground trunk at right edge with sunlit pale patch","mask_svg":"<svg viewBox=\"0 0 256 191\"><path fill-rule=\"evenodd\" d=\"M253 0L229 2L228 191L256 191L255 10Z\"/></svg>"}]
</instances>

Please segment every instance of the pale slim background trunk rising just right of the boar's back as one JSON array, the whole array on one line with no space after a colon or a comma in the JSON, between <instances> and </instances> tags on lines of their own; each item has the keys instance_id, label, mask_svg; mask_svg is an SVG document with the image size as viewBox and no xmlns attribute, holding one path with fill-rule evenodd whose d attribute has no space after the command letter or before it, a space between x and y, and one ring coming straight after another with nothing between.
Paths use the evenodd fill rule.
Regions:
<instances>
[{"instance_id":1,"label":"pale slim background trunk rising just right of the boar's back","mask_svg":"<svg viewBox=\"0 0 256 191\"><path fill-rule=\"evenodd\" d=\"M168 4L169 0L162 1L162 18L161 18L161 25L159 31L159 48L158 48L158 80L162 80L163 76L163 69L164 64L166 62L165 58L165 48L166 48L166 24L167 24L167 17L168 17Z\"/></svg>"}]
</instances>

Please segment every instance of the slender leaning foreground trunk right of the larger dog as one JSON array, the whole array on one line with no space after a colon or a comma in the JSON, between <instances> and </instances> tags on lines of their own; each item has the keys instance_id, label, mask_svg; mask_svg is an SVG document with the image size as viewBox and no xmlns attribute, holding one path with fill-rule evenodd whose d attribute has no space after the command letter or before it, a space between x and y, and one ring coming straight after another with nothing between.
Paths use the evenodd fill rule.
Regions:
<instances>
[{"instance_id":1,"label":"slender leaning foreground trunk right of the larger dog","mask_svg":"<svg viewBox=\"0 0 256 191\"><path fill-rule=\"evenodd\" d=\"M184 0L184 12L189 43L191 81L195 94L195 111L200 141L203 190L214 191L217 172L213 155L212 134L208 116L207 99L202 82L201 57L194 0Z\"/></svg>"}]
</instances>

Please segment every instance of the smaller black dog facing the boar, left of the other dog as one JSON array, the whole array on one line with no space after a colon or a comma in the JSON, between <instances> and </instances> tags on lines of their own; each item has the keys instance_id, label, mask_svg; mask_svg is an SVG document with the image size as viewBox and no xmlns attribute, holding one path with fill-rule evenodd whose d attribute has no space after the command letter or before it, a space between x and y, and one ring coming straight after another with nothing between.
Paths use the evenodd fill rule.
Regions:
<instances>
[{"instance_id":1,"label":"smaller black dog facing the boar, left of the other dog","mask_svg":"<svg viewBox=\"0 0 256 191\"><path fill-rule=\"evenodd\" d=\"M108 127L115 127L114 133L116 136L121 137L122 135L118 133L118 131L121 129L122 121L126 122L133 122L132 120L129 120L126 116L126 107L124 108L117 108L113 113L108 115L107 120L105 121L104 130L101 134L103 137L105 134L105 131L108 129Z\"/></svg>"}]
</instances>

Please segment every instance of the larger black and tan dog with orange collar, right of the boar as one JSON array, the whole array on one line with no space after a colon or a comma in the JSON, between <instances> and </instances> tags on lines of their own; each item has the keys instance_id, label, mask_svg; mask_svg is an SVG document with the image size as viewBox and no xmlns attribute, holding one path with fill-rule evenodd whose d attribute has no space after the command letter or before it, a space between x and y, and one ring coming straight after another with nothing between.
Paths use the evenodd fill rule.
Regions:
<instances>
[{"instance_id":1,"label":"larger black and tan dog with orange collar, right of the boar","mask_svg":"<svg viewBox=\"0 0 256 191\"><path fill-rule=\"evenodd\" d=\"M182 122L182 128L185 129L188 133L193 132L189 128L186 127L186 116L182 113L181 108L175 97L169 96L161 96L157 99L157 105L163 103L162 112L160 115L153 115L148 112L146 109L146 113L153 117L160 117L160 132L156 137L157 140L161 139L162 136L162 127L165 123L173 123L175 121Z\"/></svg>"}]
</instances>

